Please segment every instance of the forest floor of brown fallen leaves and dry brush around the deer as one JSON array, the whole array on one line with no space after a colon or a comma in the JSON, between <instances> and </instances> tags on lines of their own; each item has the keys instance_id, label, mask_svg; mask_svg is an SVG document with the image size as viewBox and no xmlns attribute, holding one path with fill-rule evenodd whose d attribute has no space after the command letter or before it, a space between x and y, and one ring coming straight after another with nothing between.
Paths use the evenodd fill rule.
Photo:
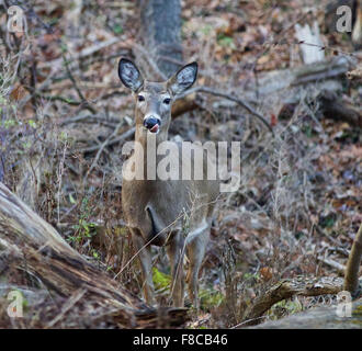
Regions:
<instances>
[{"instance_id":1,"label":"forest floor of brown fallen leaves and dry brush around the deer","mask_svg":"<svg viewBox=\"0 0 362 351\"><path fill-rule=\"evenodd\" d=\"M327 2L317 8L303 0L184 0L184 60L199 63L199 86L242 100L258 77L303 64L296 23L318 23L326 57L353 52L348 35L328 27ZM72 1L26 3L26 35L7 37L5 14L0 15L0 107L7 106L0 110L0 181L80 253L142 296L137 263L127 264L134 251L121 207L121 150L132 139L134 100L116 69L122 56L147 60L135 1L83 1L80 12ZM362 86L340 80L342 98L361 111ZM301 97L310 86L299 88ZM361 128L327 118L310 97L293 105L267 104L256 89L250 103L274 135L223 98L195 99L197 107L172 122L170 136L241 140L242 165L239 190L217 204L200 278L202 309L188 327L230 328L281 279L342 276L362 220ZM38 171L39 192L26 197L25 176ZM112 227L117 235L110 238L104 231ZM170 282L165 256L155 249L161 304ZM295 297L265 318L332 302Z\"/></svg>"}]
</instances>

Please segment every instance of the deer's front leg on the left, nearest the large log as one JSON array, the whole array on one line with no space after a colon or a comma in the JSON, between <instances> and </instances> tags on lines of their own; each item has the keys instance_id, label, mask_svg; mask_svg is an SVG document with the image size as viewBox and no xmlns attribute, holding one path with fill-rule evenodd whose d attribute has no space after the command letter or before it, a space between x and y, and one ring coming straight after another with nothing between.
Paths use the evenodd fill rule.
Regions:
<instances>
[{"instance_id":1,"label":"deer's front leg on the left, nearest the large log","mask_svg":"<svg viewBox=\"0 0 362 351\"><path fill-rule=\"evenodd\" d=\"M131 229L132 240L138 252L143 273L143 288L146 303L150 306L155 305L155 288L152 281L152 257L150 246L145 247L145 240L137 229Z\"/></svg>"}]
</instances>

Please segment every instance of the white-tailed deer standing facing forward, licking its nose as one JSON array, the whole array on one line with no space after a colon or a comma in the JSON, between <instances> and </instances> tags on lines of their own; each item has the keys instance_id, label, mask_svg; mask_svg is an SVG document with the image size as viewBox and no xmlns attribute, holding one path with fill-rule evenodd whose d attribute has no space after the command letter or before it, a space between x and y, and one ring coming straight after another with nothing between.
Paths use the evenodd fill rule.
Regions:
<instances>
[{"instance_id":1,"label":"white-tailed deer standing facing forward, licking its nose","mask_svg":"<svg viewBox=\"0 0 362 351\"><path fill-rule=\"evenodd\" d=\"M152 260L150 245L166 245L172 273L171 296L174 306L184 304L183 257L189 259L186 281L189 297L194 307L199 308L199 271L205 254L210 238L210 228L218 182L216 180L182 180L167 179L158 173L146 174L148 156L160 161L157 147L168 139L171 122L171 106L174 97L190 88L197 76L197 64L182 67L172 78L165 82L144 80L140 71L128 59L122 58L118 65L121 81L135 95L135 144L143 151L131 156L125 166L124 174L142 166L144 179L125 179L122 184L122 206L125 219L132 231L132 238L139 260L144 279L144 293L148 304L155 304L152 283ZM154 143L152 143L154 141ZM193 167L207 169L208 158L202 165L193 165L193 157L188 145L178 145L182 152L179 158L179 169L190 171ZM189 161L186 157L189 157ZM191 165L191 169L186 169ZM193 174L193 173L192 173ZM205 172L204 172L205 174ZM184 178L183 178L184 179Z\"/></svg>"}]
</instances>

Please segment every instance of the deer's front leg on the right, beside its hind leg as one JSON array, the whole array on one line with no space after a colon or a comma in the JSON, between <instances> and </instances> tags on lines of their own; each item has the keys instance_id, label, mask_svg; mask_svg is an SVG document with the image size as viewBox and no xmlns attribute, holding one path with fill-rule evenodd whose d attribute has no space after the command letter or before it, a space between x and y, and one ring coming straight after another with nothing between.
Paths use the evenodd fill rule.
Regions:
<instances>
[{"instance_id":1,"label":"deer's front leg on the right, beside its hind leg","mask_svg":"<svg viewBox=\"0 0 362 351\"><path fill-rule=\"evenodd\" d=\"M173 306L183 307L184 304L184 278L183 278L183 257L184 239L180 231L173 234L172 239L167 246L172 273L171 296Z\"/></svg>"}]
</instances>

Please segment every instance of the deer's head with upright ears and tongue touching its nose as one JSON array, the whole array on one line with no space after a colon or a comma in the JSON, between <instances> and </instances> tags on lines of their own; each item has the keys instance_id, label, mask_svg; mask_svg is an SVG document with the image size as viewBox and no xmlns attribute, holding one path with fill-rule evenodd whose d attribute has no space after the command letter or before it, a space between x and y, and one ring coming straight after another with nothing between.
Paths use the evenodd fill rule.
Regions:
<instances>
[{"instance_id":1,"label":"deer's head with upright ears and tongue touching its nose","mask_svg":"<svg viewBox=\"0 0 362 351\"><path fill-rule=\"evenodd\" d=\"M118 75L124 86L129 88L136 100L136 128L143 133L160 133L167 136L171 120L171 106L177 94L189 89L197 76L197 64L183 66L169 80L150 82L144 80L137 66L121 58Z\"/></svg>"}]
</instances>

